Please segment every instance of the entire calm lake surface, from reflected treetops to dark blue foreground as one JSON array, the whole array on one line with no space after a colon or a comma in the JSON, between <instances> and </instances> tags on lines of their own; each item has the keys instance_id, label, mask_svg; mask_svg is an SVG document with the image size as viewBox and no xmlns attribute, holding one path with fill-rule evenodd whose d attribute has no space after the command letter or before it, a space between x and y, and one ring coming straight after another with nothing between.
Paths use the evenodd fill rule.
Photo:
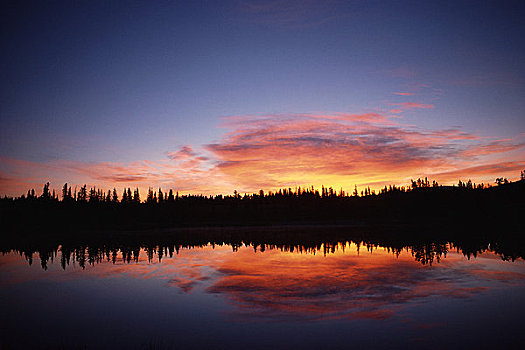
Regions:
<instances>
[{"instance_id":1,"label":"entire calm lake surface, from reflected treetops to dark blue foreground","mask_svg":"<svg viewBox=\"0 0 525 350\"><path fill-rule=\"evenodd\" d=\"M525 348L521 259L450 244L291 248L4 254L0 347Z\"/></svg>"}]
</instances>

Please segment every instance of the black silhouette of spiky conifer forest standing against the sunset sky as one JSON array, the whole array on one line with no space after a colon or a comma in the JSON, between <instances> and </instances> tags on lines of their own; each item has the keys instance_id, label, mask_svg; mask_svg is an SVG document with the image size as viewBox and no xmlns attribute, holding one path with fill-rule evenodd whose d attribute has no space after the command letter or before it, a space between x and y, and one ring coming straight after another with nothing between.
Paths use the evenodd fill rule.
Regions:
<instances>
[{"instance_id":1,"label":"black silhouette of spiky conifer forest standing against the sunset sky","mask_svg":"<svg viewBox=\"0 0 525 350\"><path fill-rule=\"evenodd\" d=\"M494 186L459 181L442 186L417 179L411 186L369 187L353 193L332 187L280 189L233 195L179 195L150 189L141 200L138 188L103 191L64 184L61 198L49 183L18 198L0 199L0 224L6 232L36 235L75 234L82 230L129 230L280 224L423 224L463 225L483 230L523 232L525 171L522 179L496 179Z\"/></svg>"}]
</instances>

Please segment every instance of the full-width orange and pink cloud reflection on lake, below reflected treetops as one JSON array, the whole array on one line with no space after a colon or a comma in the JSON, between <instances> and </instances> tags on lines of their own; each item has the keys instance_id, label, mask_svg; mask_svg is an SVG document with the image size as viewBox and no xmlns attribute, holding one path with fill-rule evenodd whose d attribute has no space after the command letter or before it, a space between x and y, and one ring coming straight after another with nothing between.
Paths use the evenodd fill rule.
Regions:
<instances>
[{"instance_id":1,"label":"full-width orange and pink cloud reflection on lake, below reflected treetops","mask_svg":"<svg viewBox=\"0 0 525 350\"><path fill-rule=\"evenodd\" d=\"M446 259L429 267L414 261L404 250L398 255L376 247L361 249L358 254L354 243L335 248L325 256L279 249L257 253L253 247L232 252L231 246L208 245L180 249L172 258L163 255L162 262L157 262L159 250L149 248L137 249L131 263L125 263L119 253L115 264L102 257L94 259L94 265L86 264L85 269L77 263L63 271L56 259L48 263L45 272L37 261L28 267L22 256L10 253L0 257L4 277L0 285L86 277L154 279L186 294L205 291L221 295L234 305L232 313L241 318L317 320L386 319L408 303L424 302L428 297L468 299L489 287L523 285L525 281L522 263L493 259L492 253L467 262L461 253L451 250Z\"/></svg>"}]
</instances>

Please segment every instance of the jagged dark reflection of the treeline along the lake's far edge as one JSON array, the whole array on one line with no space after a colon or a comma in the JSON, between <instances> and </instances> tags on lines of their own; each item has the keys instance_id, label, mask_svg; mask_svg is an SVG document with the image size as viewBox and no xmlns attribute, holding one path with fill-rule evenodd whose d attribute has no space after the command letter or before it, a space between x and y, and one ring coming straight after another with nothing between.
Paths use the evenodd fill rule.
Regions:
<instances>
[{"instance_id":1,"label":"jagged dark reflection of the treeline along the lake's far edge","mask_svg":"<svg viewBox=\"0 0 525 350\"><path fill-rule=\"evenodd\" d=\"M307 232L304 234L296 233L295 238L280 238L278 232L267 230L266 238L260 238L259 233L252 233L252 237L247 232L218 231L214 234L208 232L197 234L192 232L184 236L178 233L176 237L165 234L166 237L148 238L147 236L123 236L118 239L93 240L89 244L70 243L49 244L49 243L19 243L16 245L5 246L1 249L6 253L16 251L23 255L29 264L32 264L33 255L37 254L43 269L47 269L49 261L60 254L60 265L65 269L69 264L75 263L79 267L85 268L86 264L95 265L102 261L109 261L115 264L119 259L123 263L138 262L140 251L145 251L149 262L154 259L162 261L163 257L170 258L178 254L181 249L196 249L208 245L212 247L228 245L233 252L241 247L252 247L255 252L266 252L279 250L282 252L297 252L301 254L322 254L329 256L336 252L345 252L350 243L354 243L357 253L362 249L373 252L378 249L385 249L394 257L399 257L402 251L409 252L415 261L423 265L439 263L446 258L449 250L454 249L462 253L467 258L476 258L484 252L493 252L503 260L514 261L518 258L525 258L525 244L521 240L487 240L487 239L462 239L462 240L421 240L399 238L393 239L392 235L384 237L359 235L359 238L326 240L319 237L318 231ZM327 233L325 235L330 235ZM350 235L351 236L351 235ZM373 238L372 238L373 237ZM120 257L119 257L120 256Z\"/></svg>"}]
</instances>

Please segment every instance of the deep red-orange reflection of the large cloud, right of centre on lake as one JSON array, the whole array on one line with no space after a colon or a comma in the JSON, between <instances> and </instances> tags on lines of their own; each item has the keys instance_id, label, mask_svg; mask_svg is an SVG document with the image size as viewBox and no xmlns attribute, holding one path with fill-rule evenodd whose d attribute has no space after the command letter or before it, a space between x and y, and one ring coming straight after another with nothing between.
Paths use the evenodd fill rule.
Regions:
<instances>
[{"instance_id":1,"label":"deep red-orange reflection of the large cloud, right of centre on lake","mask_svg":"<svg viewBox=\"0 0 525 350\"><path fill-rule=\"evenodd\" d=\"M227 296L241 317L385 319L404 304L430 296L470 298L488 290L470 286L472 281L494 280L491 273L470 273L454 264L429 269L380 252L312 257L244 251L221 265L223 277L208 291ZM523 275L499 278L516 281Z\"/></svg>"}]
</instances>

